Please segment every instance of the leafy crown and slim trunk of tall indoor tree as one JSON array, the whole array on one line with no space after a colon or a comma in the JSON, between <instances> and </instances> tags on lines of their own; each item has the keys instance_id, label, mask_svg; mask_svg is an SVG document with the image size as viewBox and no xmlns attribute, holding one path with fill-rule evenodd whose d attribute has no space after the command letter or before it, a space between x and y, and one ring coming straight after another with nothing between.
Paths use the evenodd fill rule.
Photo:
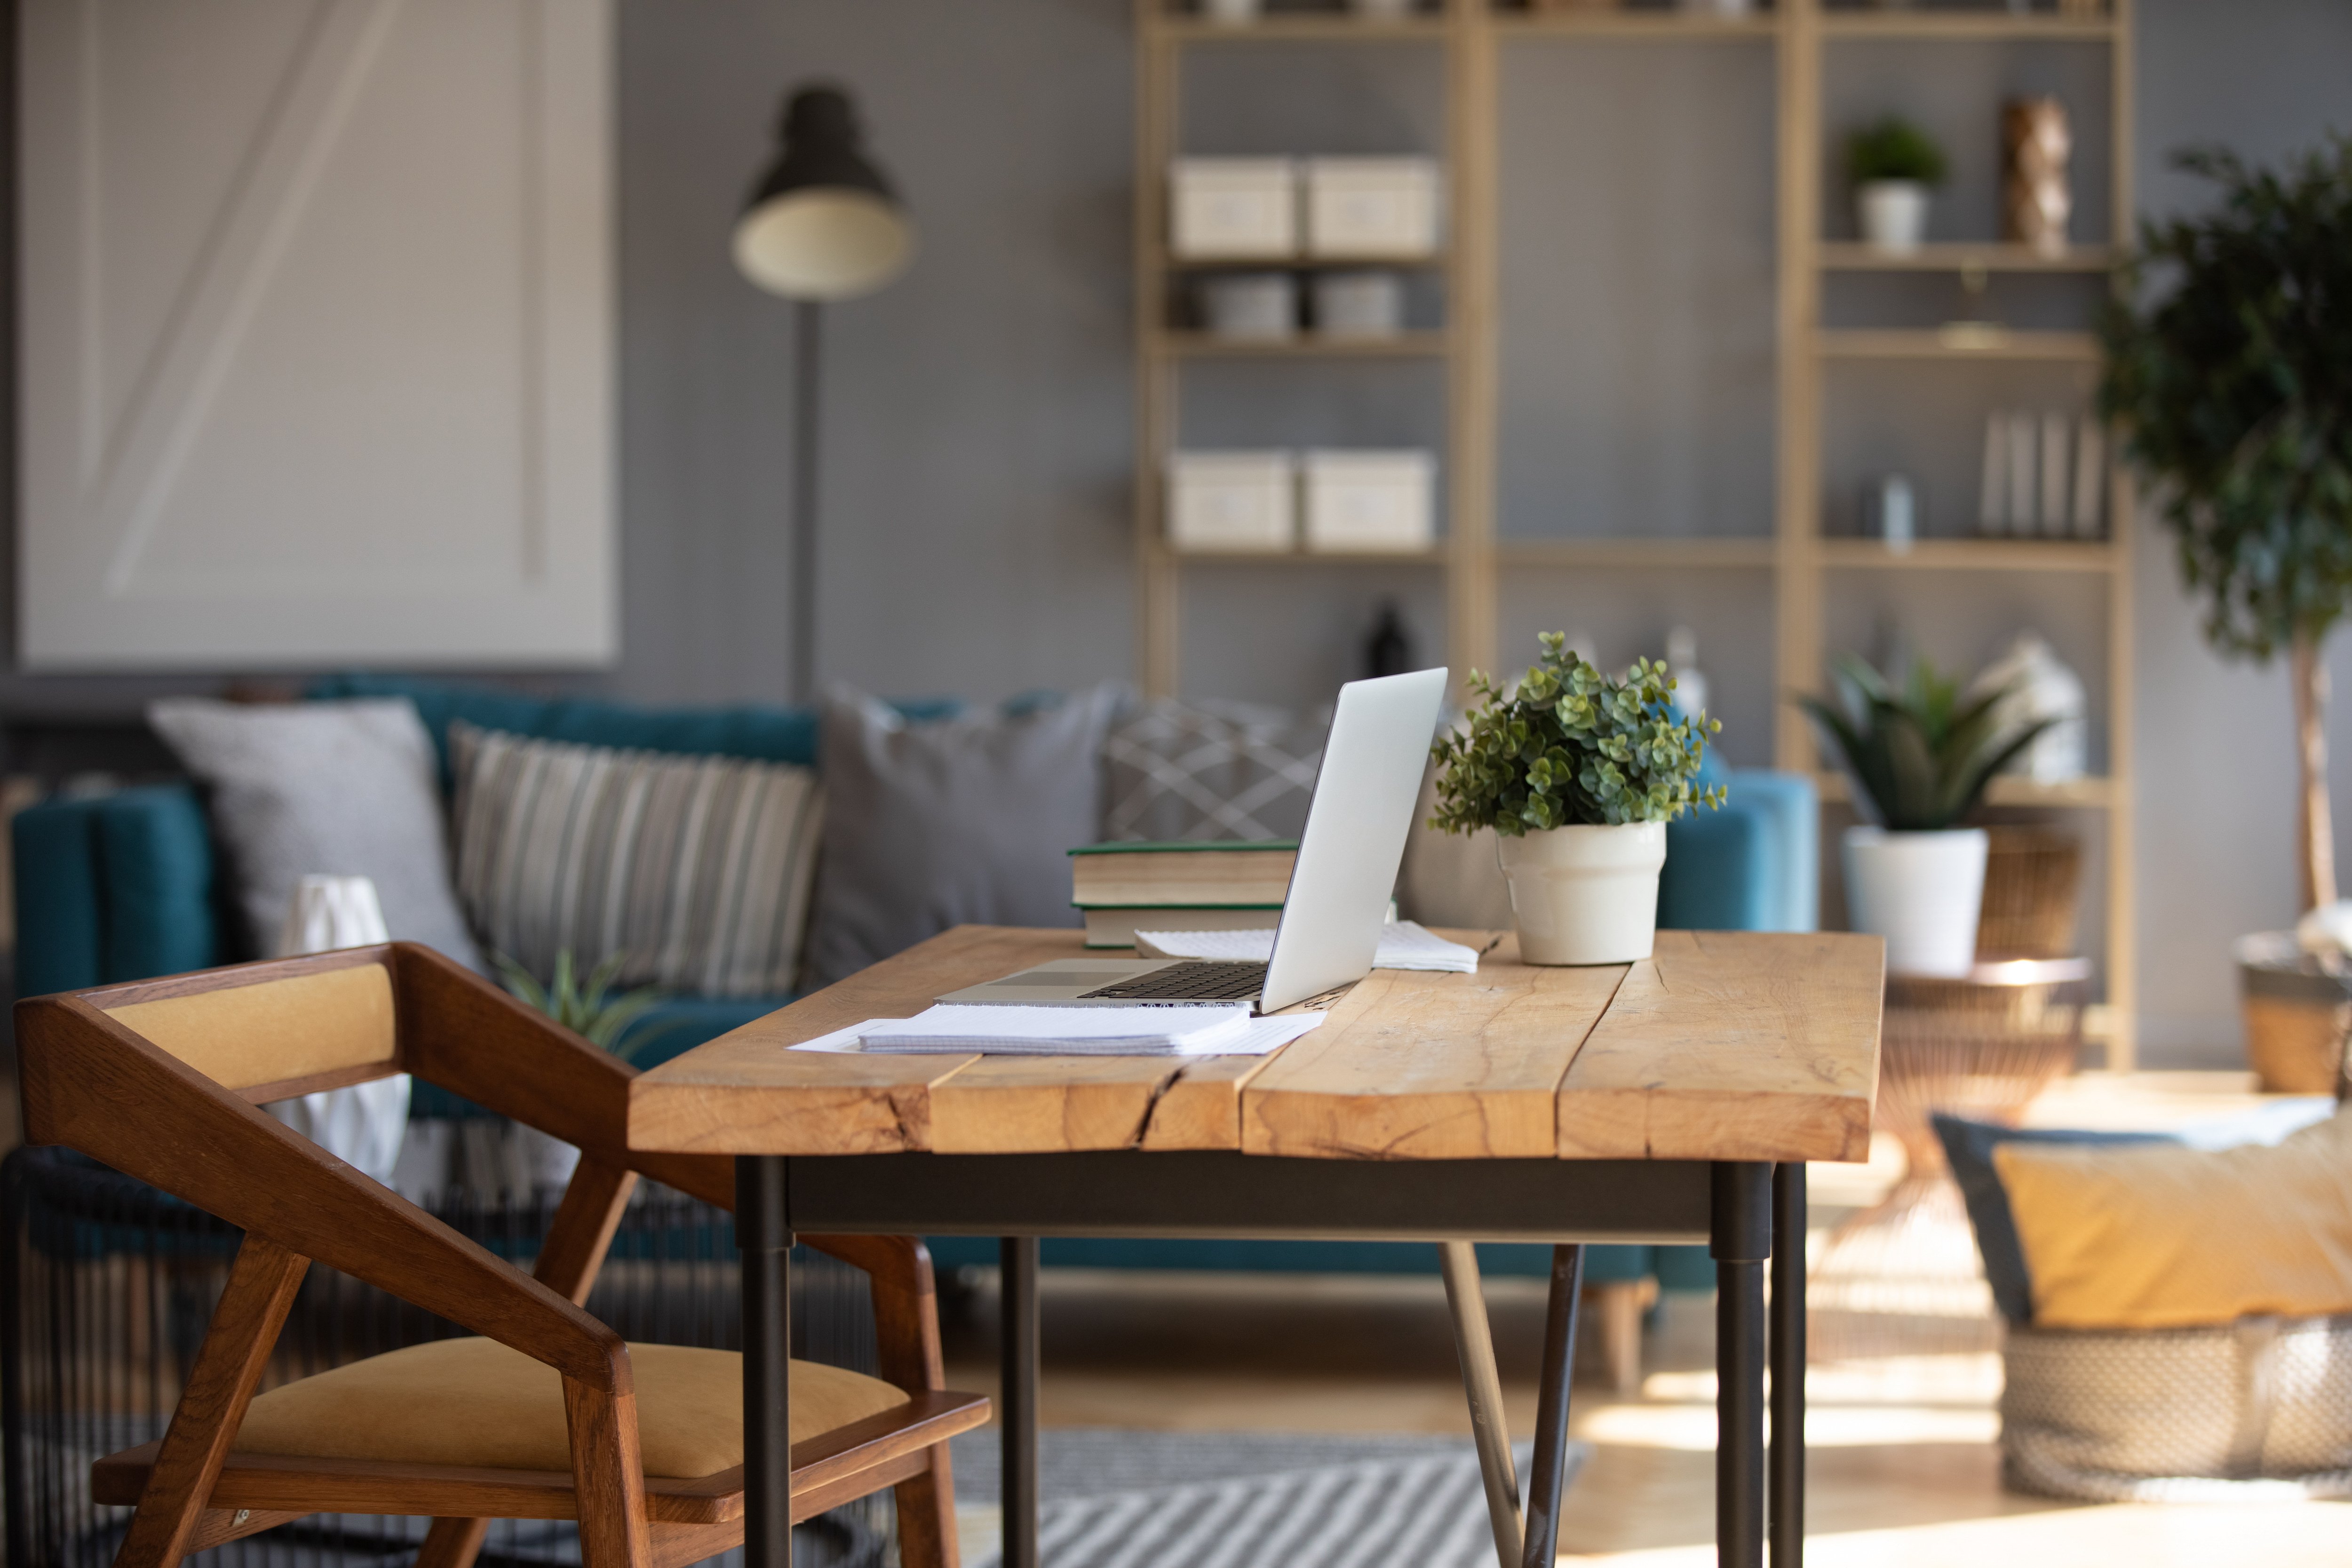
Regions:
<instances>
[{"instance_id":1,"label":"leafy crown and slim trunk of tall indoor tree","mask_svg":"<svg viewBox=\"0 0 2352 1568\"><path fill-rule=\"evenodd\" d=\"M2321 644L2352 609L2352 139L2281 169L2176 160L2220 186L2145 223L2103 336L2100 409L2152 480L2225 656L2288 654L2303 907L2336 900Z\"/></svg>"}]
</instances>

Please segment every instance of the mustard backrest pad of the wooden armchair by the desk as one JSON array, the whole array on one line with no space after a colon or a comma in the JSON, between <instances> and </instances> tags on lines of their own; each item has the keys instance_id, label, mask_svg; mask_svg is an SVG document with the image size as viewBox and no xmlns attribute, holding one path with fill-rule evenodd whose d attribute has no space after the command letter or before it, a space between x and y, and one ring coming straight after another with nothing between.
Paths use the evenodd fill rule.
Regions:
<instances>
[{"instance_id":1,"label":"mustard backrest pad of the wooden armchair by the desk","mask_svg":"<svg viewBox=\"0 0 2352 1568\"><path fill-rule=\"evenodd\" d=\"M223 1088L393 1060L393 976L383 964L132 1001L106 1016Z\"/></svg>"}]
</instances>

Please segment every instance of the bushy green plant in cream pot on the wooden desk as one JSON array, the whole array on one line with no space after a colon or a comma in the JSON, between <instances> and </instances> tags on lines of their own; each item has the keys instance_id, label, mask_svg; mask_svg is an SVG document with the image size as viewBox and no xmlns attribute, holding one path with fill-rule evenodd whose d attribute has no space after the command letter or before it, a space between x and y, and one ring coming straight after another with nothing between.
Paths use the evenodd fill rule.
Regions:
<instances>
[{"instance_id":1,"label":"bushy green plant in cream pot on the wooden desk","mask_svg":"<svg viewBox=\"0 0 2352 1568\"><path fill-rule=\"evenodd\" d=\"M1496 830L1496 858L1529 964L1646 959L1658 931L1665 825L1724 790L1693 788L1705 736L1722 729L1675 708L1663 663L1609 677L1541 637L1536 668L1508 691L1477 670L1482 698L1463 729L1430 748L1442 832Z\"/></svg>"}]
</instances>

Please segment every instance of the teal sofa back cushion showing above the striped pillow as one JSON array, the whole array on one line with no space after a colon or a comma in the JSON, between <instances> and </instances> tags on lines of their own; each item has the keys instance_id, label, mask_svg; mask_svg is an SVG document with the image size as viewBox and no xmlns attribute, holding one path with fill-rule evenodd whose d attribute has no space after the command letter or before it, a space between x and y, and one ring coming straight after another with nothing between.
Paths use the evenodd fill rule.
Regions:
<instances>
[{"instance_id":1,"label":"teal sofa back cushion showing above the striped pillow","mask_svg":"<svg viewBox=\"0 0 2352 1568\"><path fill-rule=\"evenodd\" d=\"M524 696L499 686L419 679L412 675L329 675L310 698L405 696L416 703L433 745L440 748L442 783L449 783L449 722L503 729L541 741L616 745L682 757L746 757L816 766L814 708L633 708L593 696ZM894 703L908 719L953 719L957 698Z\"/></svg>"}]
</instances>

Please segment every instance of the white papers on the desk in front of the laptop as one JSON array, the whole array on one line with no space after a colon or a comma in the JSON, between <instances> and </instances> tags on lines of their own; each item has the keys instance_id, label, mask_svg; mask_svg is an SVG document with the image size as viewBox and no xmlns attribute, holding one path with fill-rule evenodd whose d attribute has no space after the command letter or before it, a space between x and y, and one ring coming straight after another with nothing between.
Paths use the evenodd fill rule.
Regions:
<instances>
[{"instance_id":1,"label":"white papers on the desk in front of the laptop","mask_svg":"<svg viewBox=\"0 0 2352 1568\"><path fill-rule=\"evenodd\" d=\"M882 1056L1265 1056L1322 1013L1251 1018L1237 1004L1178 1006L934 1006L793 1046Z\"/></svg>"}]
</instances>

